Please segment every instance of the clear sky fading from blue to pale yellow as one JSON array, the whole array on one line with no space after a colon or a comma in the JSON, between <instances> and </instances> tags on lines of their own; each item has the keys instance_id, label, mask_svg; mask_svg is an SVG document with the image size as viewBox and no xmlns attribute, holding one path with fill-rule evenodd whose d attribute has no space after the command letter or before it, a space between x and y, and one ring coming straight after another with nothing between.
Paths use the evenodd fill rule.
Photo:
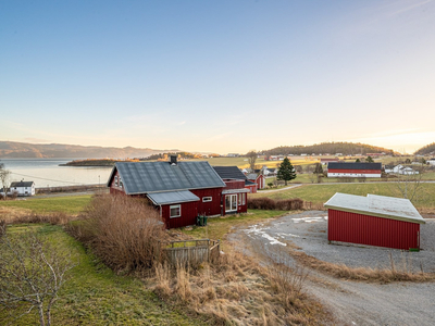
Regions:
<instances>
[{"instance_id":1,"label":"clear sky fading from blue to pale yellow","mask_svg":"<svg viewBox=\"0 0 435 326\"><path fill-rule=\"evenodd\" d=\"M435 141L435 1L0 0L0 140Z\"/></svg>"}]
</instances>

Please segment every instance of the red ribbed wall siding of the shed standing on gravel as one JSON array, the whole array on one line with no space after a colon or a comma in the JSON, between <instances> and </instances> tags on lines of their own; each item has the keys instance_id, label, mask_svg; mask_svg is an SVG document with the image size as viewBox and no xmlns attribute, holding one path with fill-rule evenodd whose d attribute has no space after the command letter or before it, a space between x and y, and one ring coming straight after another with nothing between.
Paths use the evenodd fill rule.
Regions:
<instances>
[{"instance_id":1,"label":"red ribbed wall siding of the shed standing on gravel","mask_svg":"<svg viewBox=\"0 0 435 326\"><path fill-rule=\"evenodd\" d=\"M327 239L409 250L420 248L420 224L328 210Z\"/></svg>"}]
</instances>

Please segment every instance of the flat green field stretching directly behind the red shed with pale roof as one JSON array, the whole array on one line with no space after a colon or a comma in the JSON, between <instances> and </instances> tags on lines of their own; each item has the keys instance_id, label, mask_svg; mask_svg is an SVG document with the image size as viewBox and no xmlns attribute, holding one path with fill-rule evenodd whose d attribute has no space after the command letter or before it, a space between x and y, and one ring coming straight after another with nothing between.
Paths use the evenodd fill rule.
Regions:
<instances>
[{"instance_id":1,"label":"flat green field stretching directly behind the red shed with pale roof","mask_svg":"<svg viewBox=\"0 0 435 326\"><path fill-rule=\"evenodd\" d=\"M413 204L418 209L435 209L435 184L421 184ZM304 185L289 190L277 192L258 192L249 195L250 198L266 196L272 199L300 198L315 203L326 202L335 192L359 196L368 193L401 197L395 183L384 184L341 184L341 185Z\"/></svg>"}]
</instances>

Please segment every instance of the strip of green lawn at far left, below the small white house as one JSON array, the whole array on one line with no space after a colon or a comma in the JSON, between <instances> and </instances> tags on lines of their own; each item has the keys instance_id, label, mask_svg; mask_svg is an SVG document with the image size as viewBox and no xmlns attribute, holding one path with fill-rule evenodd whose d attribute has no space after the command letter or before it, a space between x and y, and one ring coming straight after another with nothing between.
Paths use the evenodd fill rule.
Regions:
<instances>
[{"instance_id":1,"label":"strip of green lawn at far left, below the small white house","mask_svg":"<svg viewBox=\"0 0 435 326\"><path fill-rule=\"evenodd\" d=\"M78 214L90 202L91 195L53 198L32 198L27 200L2 200L0 206L32 210L35 213L64 212Z\"/></svg>"}]
</instances>

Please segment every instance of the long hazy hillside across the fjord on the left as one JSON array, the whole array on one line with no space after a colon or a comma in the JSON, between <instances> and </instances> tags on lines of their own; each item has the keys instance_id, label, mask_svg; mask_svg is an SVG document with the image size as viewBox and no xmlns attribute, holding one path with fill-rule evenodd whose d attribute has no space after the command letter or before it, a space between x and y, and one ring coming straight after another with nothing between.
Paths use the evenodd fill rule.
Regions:
<instances>
[{"instance_id":1,"label":"long hazy hillside across the fjord on the left","mask_svg":"<svg viewBox=\"0 0 435 326\"><path fill-rule=\"evenodd\" d=\"M177 150L174 150L177 151ZM86 159L125 159L146 158L148 155L167 152L149 148L115 148L99 146L78 146L62 143L26 143L0 141L0 159L34 159L34 158L86 158Z\"/></svg>"}]
</instances>

